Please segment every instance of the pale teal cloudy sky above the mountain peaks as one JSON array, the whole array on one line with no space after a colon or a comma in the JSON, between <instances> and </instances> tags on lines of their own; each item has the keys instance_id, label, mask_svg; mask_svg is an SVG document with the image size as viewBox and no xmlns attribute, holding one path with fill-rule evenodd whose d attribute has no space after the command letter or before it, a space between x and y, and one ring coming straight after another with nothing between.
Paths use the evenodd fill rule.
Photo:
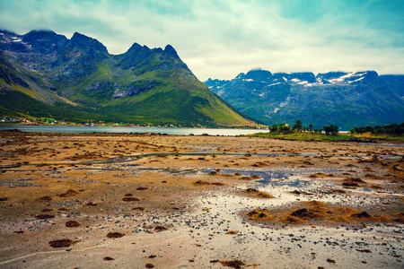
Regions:
<instances>
[{"instance_id":1,"label":"pale teal cloudy sky above the mountain peaks","mask_svg":"<svg viewBox=\"0 0 404 269\"><path fill-rule=\"evenodd\" d=\"M375 70L404 74L404 0L13 0L0 29L75 31L121 54L171 44L198 79Z\"/></svg>"}]
</instances>

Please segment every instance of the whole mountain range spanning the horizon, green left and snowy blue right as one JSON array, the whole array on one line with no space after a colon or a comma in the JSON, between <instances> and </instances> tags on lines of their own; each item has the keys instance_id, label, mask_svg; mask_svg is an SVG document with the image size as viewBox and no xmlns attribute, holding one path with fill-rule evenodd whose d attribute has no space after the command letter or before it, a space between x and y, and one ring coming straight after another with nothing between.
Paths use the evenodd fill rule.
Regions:
<instances>
[{"instance_id":1,"label":"whole mountain range spanning the horizon, green left and snowy blue right","mask_svg":"<svg viewBox=\"0 0 404 269\"><path fill-rule=\"evenodd\" d=\"M347 130L404 122L404 75L259 69L204 84L170 45L111 55L78 32L0 30L0 115L212 127L300 119Z\"/></svg>"}]
</instances>

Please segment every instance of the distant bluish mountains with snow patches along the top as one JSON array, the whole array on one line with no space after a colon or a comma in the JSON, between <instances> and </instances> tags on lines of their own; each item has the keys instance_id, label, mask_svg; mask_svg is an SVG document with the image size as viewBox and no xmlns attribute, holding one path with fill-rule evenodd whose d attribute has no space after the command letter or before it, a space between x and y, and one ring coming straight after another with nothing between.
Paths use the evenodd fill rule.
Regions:
<instances>
[{"instance_id":1,"label":"distant bluish mountains with snow patches along the top","mask_svg":"<svg viewBox=\"0 0 404 269\"><path fill-rule=\"evenodd\" d=\"M277 73L251 70L233 80L208 79L206 85L234 108L268 125L315 128L377 126L404 122L404 75L374 71Z\"/></svg>"}]
</instances>

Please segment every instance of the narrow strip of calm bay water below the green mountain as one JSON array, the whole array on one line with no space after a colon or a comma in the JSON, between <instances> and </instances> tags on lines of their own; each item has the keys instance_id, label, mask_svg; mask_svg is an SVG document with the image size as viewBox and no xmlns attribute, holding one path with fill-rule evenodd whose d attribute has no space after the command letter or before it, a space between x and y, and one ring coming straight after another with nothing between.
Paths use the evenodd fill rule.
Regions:
<instances>
[{"instance_id":1,"label":"narrow strip of calm bay water below the green mountain","mask_svg":"<svg viewBox=\"0 0 404 269\"><path fill-rule=\"evenodd\" d=\"M153 134L209 134L209 135L240 135L268 132L258 129L209 129L209 128L158 128L158 127L90 127L90 126L0 126L0 130L19 129L23 132L33 133L153 133Z\"/></svg>"}]
</instances>

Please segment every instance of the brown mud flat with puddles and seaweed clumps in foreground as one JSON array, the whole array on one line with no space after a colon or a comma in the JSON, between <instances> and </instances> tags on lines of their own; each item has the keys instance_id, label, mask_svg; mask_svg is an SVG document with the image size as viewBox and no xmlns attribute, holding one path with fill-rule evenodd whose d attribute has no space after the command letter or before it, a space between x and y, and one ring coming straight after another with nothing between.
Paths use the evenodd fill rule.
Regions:
<instances>
[{"instance_id":1,"label":"brown mud flat with puddles and seaweed clumps in foreground","mask_svg":"<svg viewBox=\"0 0 404 269\"><path fill-rule=\"evenodd\" d=\"M404 147L0 132L1 268L400 268Z\"/></svg>"}]
</instances>

